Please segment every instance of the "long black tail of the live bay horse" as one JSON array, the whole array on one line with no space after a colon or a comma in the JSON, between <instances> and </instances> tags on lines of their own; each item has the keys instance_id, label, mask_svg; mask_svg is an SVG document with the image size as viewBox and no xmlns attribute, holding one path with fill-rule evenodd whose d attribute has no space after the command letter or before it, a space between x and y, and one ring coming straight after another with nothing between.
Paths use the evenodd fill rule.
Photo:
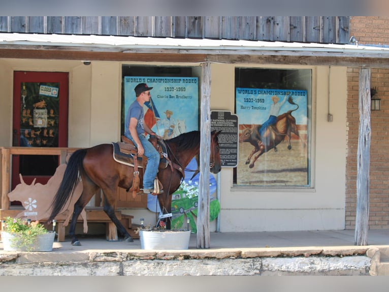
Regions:
<instances>
[{"instance_id":1,"label":"long black tail of the live bay horse","mask_svg":"<svg viewBox=\"0 0 389 292\"><path fill-rule=\"evenodd\" d=\"M52 211L47 222L51 222L65 206L69 197L79 182L80 171L83 169L82 161L86 155L86 149L79 149L72 154L63 174L63 179L54 199L51 203Z\"/></svg>"}]
</instances>

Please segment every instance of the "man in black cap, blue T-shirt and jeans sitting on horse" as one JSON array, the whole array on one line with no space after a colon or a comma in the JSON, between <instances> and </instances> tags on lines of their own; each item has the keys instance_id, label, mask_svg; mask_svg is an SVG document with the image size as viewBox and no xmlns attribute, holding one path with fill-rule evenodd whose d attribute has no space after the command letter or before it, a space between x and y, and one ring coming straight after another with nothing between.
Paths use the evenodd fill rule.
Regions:
<instances>
[{"instance_id":1,"label":"man in black cap, blue T-shirt and jeans sitting on horse","mask_svg":"<svg viewBox=\"0 0 389 292\"><path fill-rule=\"evenodd\" d=\"M153 193L154 179L157 175L159 165L159 153L154 146L145 137L145 132L150 136L157 136L145 123L143 104L146 101L150 101L150 90L153 87L148 87L146 83L139 83L135 86L136 100L128 107L127 114L125 116L125 130L124 135L134 142L138 148L139 156L147 157L147 166L143 174L143 193ZM163 191L160 190L159 193Z\"/></svg>"}]
</instances>

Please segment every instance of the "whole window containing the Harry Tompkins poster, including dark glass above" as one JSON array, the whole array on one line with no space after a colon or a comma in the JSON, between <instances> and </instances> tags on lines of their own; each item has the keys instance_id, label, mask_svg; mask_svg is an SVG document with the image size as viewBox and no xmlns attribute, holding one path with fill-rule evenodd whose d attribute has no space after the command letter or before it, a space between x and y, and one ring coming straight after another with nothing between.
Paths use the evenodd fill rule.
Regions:
<instances>
[{"instance_id":1,"label":"whole window containing the Harry Tompkins poster, including dark glass above","mask_svg":"<svg viewBox=\"0 0 389 292\"><path fill-rule=\"evenodd\" d=\"M310 69L235 69L234 186L311 186L311 87Z\"/></svg>"}]
</instances>

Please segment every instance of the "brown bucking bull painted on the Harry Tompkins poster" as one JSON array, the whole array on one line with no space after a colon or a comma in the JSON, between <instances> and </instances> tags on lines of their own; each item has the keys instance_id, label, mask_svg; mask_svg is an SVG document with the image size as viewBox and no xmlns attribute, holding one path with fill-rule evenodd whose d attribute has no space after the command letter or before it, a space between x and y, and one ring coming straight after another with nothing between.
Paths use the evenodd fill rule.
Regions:
<instances>
[{"instance_id":1,"label":"brown bucking bull painted on the Harry Tompkins poster","mask_svg":"<svg viewBox=\"0 0 389 292\"><path fill-rule=\"evenodd\" d=\"M249 142L254 146L254 149L251 151L245 164L249 164L249 167L254 167L255 161L262 154L268 152L274 148L274 151L277 152L277 145L281 143L285 137L288 137L289 144L287 149L291 149L290 136L291 133L296 134L304 144L306 142L300 137L299 130L297 129L296 119L291 113L299 108L299 105L294 103L291 97L289 97L288 102L290 104L297 105L297 108L288 110L281 115L277 116L277 121L274 125L271 125L266 129L265 134L261 137L259 130L262 125L252 125L251 128L245 128L243 133L239 137L239 142ZM254 156L252 162L251 157Z\"/></svg>"}]
</instances>

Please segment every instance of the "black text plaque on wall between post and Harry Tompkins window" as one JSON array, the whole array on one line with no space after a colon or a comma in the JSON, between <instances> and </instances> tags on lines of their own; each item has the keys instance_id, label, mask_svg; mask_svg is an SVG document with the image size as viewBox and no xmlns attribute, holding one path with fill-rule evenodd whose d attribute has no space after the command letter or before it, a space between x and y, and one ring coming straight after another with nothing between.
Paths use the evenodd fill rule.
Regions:
<instances>
[{"instance_id":1,"label":"black text plaque on wall between post and Harry Tompkins window","mask_svg":"<svg viewBox=\"0 0 389 292\"><path fill-rule=\"evenodd\" d=\"M231 111L211 111L211 131L220 131L220 162L223 167L238 165L238 116Z\"/></svg>"}]
</instances>

